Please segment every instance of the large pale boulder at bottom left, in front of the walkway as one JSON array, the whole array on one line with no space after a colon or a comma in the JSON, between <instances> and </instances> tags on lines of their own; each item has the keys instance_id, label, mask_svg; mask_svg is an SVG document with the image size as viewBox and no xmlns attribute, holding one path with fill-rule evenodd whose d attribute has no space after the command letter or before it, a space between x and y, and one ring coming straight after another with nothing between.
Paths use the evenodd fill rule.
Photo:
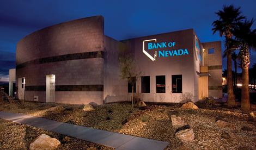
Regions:
<instances>
[{"instance_id":1,"label":"large pale boulder at bottom left, in front of the walkway","mask_svg":"<svg viewBox=\"0 0 256 150\"><path fill-rule=\"evenodd\" d=\"M29 149L57 149L60 146L60 141L46 134L41 134L36 137L35 141L29 145Z\"/></svg>"}]
</instances>

